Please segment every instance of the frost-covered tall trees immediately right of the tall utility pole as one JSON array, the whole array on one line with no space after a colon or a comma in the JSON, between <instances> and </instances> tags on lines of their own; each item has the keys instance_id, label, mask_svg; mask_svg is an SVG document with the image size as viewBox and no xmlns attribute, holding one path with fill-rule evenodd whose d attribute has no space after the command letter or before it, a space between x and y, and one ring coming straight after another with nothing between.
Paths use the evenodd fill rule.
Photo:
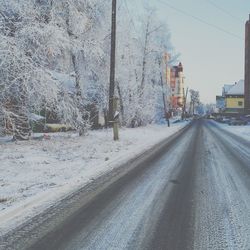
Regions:
<instances>
[{"instance_id":1,"label":"frost-covered tall trees immediately right of the tall utility pole","mask_svg":"<svg viewBox=\"0 0 250 250\"><path fill-rule=\"evenodd\" d=\"M145 12L138 33L131 32L127 20L118 29L117 88L122 121L127 126L145 125L165 113L163 95L169 92L163 85L162 59L173 48L168 29L154 14L151 9Z\"/></svg>"}]
</instances>

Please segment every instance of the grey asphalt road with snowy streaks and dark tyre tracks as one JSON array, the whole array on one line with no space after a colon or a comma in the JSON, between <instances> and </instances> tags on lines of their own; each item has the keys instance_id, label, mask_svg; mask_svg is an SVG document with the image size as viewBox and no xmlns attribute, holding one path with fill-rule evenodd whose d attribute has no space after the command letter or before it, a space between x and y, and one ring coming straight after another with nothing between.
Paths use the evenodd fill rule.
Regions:
<instances>
[{"instance_id":1,"label":"grey asphalt road with snowy streaks and dark tyre tracks","mask_svg":"<svg viewBox=\"0 0 250 250\"><path fill-rule=\"evenodd\" d=\"M198 120L31 249L250 250L250 142Z\"/></svg>"}]
</instances>

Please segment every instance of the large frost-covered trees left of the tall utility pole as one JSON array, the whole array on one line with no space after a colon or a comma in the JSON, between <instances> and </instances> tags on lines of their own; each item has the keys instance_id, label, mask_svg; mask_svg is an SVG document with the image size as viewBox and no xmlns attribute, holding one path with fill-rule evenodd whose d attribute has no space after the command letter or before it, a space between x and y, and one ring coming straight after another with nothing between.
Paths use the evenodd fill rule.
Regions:
<instances>
[{"instance_id":1,"label":"large frost-covered trees left of the tall utility pole","mask_svg":"<svg viewBox=\"0 0 250 250\"><path fill-rule=\"evenodd\" d=\"M17 139L27 139L29 113L45 109L84 130L89 96L83 90L89 88L90 79L100 78L96 66L103 64L103 44L97 35L105 36L97 28L104 4L88 0L0 2L2 127Z\"/></svg>"}]
</instances>

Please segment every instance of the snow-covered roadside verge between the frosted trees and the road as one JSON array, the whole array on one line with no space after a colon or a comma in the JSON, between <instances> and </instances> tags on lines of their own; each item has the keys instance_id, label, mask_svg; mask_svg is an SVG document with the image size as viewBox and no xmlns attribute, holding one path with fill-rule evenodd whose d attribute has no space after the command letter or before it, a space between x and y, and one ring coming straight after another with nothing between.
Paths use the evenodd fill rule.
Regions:
<instances>
[{"instance_id":1,"label":"snow-covered roadside verge between the frosted trees and the road","mask_svg":"<svg viewBox=\"0 0 250 250\"><path fill-rule=\"evenodd\" d=\"M0 145L0 232L7 232L186 124L122 129L118 142L113 142L111 130L100 130L82 138L68 134Z\"/></svg>"}]
</instances>

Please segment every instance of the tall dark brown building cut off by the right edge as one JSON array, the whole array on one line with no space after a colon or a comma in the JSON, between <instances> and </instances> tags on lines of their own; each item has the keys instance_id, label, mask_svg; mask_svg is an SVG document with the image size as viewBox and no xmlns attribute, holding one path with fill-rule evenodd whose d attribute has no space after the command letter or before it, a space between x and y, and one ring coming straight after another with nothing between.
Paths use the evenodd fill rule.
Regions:
<instances>
[{"instance_id":1,"label":"tall dark brown building cut off by the right edge","mask_svg":"<svg viewBox=\"0 0 250 250\"><path fill-rule=\"evenodd\" d=\"M245 112L250 114L250 15L245 38Z\"/></svg>"}]
</instances>

